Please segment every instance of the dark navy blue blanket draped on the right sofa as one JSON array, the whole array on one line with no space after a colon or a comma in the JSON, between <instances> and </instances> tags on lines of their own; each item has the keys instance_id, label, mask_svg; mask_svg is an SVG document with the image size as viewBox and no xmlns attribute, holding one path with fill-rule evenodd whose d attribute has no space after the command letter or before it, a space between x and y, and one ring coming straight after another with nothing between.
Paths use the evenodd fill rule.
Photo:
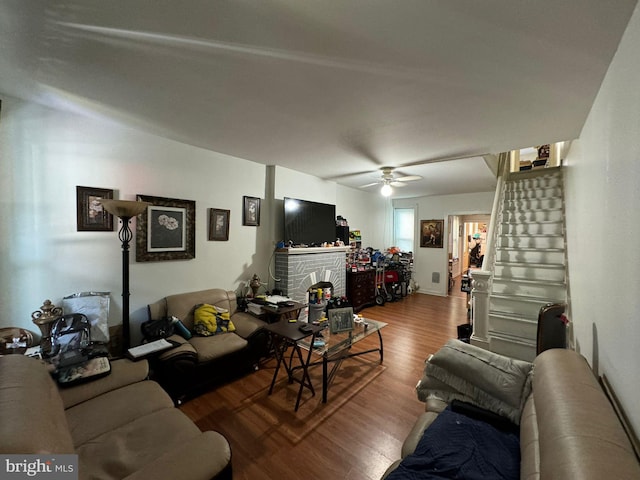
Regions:
<instances>
[{"instance_id":1,"label":"dark navy blue blanket draped on the right sofa","mask_svg":"<svg viewBox=\"0 0 640 480\"><path fill-rule=\"evenodd\" d=\"M520 439L516 432L444 410L425 430L413 454L387 480L518 480Z\"/></svg>"}]
</instances>

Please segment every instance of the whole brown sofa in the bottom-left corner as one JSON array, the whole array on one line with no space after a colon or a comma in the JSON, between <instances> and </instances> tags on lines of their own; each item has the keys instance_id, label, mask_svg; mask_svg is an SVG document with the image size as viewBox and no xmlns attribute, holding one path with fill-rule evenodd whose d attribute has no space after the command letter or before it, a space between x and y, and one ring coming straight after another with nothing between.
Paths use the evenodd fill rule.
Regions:
<instances>
[{"instance_id":1,"label":"whole brown sofa in the bottom-left corner","mask_svg":"<svg viewBox=\"0 0 640 480\"><path fill-rule=\"evenodd\" d=\"M175 408L146 361L111 367L59 389L40 360L0 356L0 452L77 454L80 479L231 479L225 437Z\"/></svg>"}]
</instances>

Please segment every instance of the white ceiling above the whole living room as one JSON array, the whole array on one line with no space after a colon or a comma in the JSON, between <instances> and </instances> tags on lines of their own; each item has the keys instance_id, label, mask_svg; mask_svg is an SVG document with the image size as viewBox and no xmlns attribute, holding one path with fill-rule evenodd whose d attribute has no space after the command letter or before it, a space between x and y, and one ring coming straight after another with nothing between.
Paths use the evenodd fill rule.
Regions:
<instances>
[{"instance_id":1,"label":"white ceiling above the whole living room","mask_svg":"<svg viewBox=\"0 0 640 480\"><path fill-rule=\"evenodd\" d=\"M0 92L349 186L424 177L394 196L488 191L482 155L579 136L635 4L0 0Z\"/></svg>"}]
</instances>

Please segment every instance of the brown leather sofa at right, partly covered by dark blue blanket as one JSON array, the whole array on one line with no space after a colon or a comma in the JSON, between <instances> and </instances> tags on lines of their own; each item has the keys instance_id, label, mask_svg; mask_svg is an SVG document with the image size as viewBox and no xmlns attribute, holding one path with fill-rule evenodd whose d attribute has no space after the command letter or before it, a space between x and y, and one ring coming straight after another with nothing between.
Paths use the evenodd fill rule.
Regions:
<instances>
[{"instance_id":1,"label":"brown leather sofa at right, partly covered by dark blue blanket","mask_svg":"<svg viewBox=\"0 0 640 480\"><path fill-rule=\"evenodd\" d=\"M478 388L498 400L486 398L477 402L483 409L503 415L505 406L509 410L509 404L521 405L515 422L520 432L521 479L640 478L638 457L584 357L572 350L547 350L536 357L527 372L526 362L514 363L507 357L482 350L482 360L477 364L490 365L491 369L497 365L502 372L494 379L499 383L492 386L493 380L487 383L486 379L493 374L482 373L482 368L477 369L474 364L473 357L481 349L456 342L451 341L451 345L443 348L452 346L458 350L462 357L460 365L471 363L471 371L462 381L443 382L441 376L434 381L429 374L430 362L438 353L427 361L425 376L417 386L419 397L425 401L425 413L407 436L402 458L414 452L424 431L447 402L457 398L474 403L468 393ZM475 385L468 390L467 382ZM455 388L451 388L453 384ZM520 400L514 395L518 389L522 392ZM464 390L467 393L461 393ZM389 476L401 461L392 464L382 478Z\"/></svg>"}]
</instances>

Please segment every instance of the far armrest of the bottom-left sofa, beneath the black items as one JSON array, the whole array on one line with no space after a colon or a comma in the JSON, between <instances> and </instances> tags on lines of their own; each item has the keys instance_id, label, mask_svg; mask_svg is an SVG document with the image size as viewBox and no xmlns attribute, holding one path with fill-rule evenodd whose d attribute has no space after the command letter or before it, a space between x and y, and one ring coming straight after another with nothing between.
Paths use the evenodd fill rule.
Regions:
<instances>
[{"instance_id":1,"label":"far armrest of the bottom-left sofa, beneath the black items","mask_svg":"<svg viewBox=\"0 0 640 480\"><path fill-rule=\"evenodd\" d=\"M106 377L73 387L60 388L60 397L64 408L67 409L112 390L146 380L148 376L149 364L146 360L132 362L121 358L111 361L111 373Z\"/></svg>"}]
</instances>

